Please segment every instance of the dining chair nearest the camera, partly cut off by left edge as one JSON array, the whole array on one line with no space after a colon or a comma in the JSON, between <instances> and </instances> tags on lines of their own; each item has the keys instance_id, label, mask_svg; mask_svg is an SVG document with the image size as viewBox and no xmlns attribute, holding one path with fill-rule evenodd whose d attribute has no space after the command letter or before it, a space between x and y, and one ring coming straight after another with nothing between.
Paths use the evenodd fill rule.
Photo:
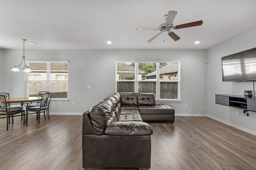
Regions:
<instances>
[{"instance_id":1,"label":"dining chair nearest the camera, partly cut off by left edge","mask_svg":"<svg viewBox=\"0 0 256 170\"><path fill-rule=\"evenodd\" d=\"M21 113L25 115L25 110L23 109L10 109L6 102L6 95L0 94L0 115L6 115L6 130L8 131L8 124L10 124L10 117L12 117L13 124L13 115ZM9 121L9 123L8 123ZM26 124L27 125L27 124Z\"/></svg>"}]
</instances>

